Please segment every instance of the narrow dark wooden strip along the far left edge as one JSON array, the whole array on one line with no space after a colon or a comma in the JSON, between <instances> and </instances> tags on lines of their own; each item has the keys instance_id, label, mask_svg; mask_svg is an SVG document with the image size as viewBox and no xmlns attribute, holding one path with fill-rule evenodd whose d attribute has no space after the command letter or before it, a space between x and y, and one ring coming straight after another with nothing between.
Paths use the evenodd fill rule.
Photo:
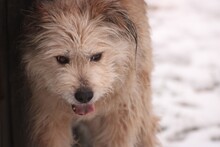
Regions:
<instances>
[{"instance_id":1,"label":"narrow dark wooden strip along the far left edge","mask_svg":"<svg viewBox=\"0 0 220 147\"><path fill-rule=\"evenodd\" d=\"M0 1L0 146L10 147L10 125L9 125L9 102L8 102L8 65L7 55L7 31L6 31L6 6L7 1Z\"/></svg>"}]
</instances>

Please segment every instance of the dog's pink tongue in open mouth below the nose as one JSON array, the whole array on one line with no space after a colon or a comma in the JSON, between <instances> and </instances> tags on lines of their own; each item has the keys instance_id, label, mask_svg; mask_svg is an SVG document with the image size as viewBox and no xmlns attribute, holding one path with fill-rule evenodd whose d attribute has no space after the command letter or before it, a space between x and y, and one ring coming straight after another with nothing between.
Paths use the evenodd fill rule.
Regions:
<instances>
[{"instance_id":1,"label":"dog's pink tongue in open mouth below the nose","mask_svg":"<svg viewBox=\"0 0 220 147\"><path fill-rule=\"evenodd\" d=\"M78 115L86 115L90 112L93 112L95 110L95 107L93 104L88 105L72 105L73 111Z\"/></svg>"}]
</instances>

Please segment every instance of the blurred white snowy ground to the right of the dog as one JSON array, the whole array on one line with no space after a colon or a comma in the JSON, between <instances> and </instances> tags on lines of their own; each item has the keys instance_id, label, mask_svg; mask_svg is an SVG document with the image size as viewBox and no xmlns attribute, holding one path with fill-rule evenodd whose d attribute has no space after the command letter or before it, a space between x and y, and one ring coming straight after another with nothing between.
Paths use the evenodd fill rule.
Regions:
<instances>
[{"instance_id":1,"label":"blurred white snowy ground to the right of the dog","mask_svg":"<svg viewBox=\"0 0 220 147\"><path fill-rule=\"evenodd\" d=\"M163 147L220 147L220 0L146 0Z\"/></svg>"}]
</instances>

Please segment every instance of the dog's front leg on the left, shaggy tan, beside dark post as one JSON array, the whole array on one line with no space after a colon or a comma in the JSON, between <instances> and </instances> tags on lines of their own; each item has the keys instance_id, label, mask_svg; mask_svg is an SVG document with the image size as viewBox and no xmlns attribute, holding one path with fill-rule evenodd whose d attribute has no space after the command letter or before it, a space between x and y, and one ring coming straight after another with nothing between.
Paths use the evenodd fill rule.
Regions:
<instances>
[{"instance_id":1,"label":"dog's front leg on the left, shaggy tan, beside dark post","mask_svg":"<svg viewBox=\"0 0 220 147\"><path fill-rule=\"evenodd\" d=\"M40 95L41 94L41 95ZM71 147L72 110L66 103L46 92L32 98L30 115L30 147Z\"/></svg>"}]
</instances>

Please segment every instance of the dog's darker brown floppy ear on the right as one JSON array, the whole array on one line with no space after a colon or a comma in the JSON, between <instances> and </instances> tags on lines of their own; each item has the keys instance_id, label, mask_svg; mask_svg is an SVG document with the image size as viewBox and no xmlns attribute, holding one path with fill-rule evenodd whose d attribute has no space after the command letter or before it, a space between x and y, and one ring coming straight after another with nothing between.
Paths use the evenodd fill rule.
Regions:
<instances>
[{"instance_id":1,"label":"dog's darker brown floppy ear on the right","mask_svg":"<svg viewBox=\"0 0 220 147\"><path fill-rule=\"evenodd\" d=\"M103 21L120 28L121 34L135 41L137 45L137 31L134 23L129 18L127 10L118 0L90 0L91 18L103 15Z\"/></svg>"}]
</instances>

